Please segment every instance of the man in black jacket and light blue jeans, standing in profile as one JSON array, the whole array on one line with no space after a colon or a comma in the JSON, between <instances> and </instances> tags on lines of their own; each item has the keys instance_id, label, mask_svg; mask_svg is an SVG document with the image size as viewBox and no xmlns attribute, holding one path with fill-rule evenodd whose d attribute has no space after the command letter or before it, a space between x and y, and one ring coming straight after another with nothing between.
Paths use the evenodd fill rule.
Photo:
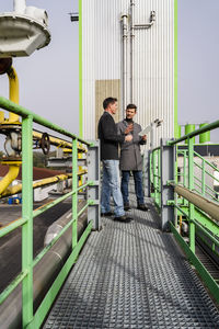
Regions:
<instances>
[{"instance_id":1,"label":"man in black jacket and light blue jeans, standing in profile","mask_svg":"<svg viewBox=\"0 0 219 329\"><path fill-rule=\"evenodd\" d=\"M101 160L103 163L103 182L101 193L101 212L103 216L111 216L111 195L114 201L116 220L129 220L125 216L123 196L120 193L118 169L118 143L130 143L131 135L117 135L113 115L117 111L117 99L107 98L103 102L104 113L99 121L99 138L101 140Z\"/></svg>"}]
</instances>

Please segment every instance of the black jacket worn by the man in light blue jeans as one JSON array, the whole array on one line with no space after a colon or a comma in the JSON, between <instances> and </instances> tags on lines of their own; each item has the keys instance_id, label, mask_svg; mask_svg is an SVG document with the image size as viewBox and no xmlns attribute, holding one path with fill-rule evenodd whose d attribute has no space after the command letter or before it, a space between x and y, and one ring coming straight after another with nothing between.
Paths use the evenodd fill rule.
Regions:
<instances>
[{"instance_id":1,"label":"black jacket worn by the man in light blue jeans","mask_svg":"<svg viewBox=\"0 0 219 329\"><path fill-rule=\"evenodd\" d=\"M118 143L125 141L125 134L118 135L113 116L104 111L99 121L101 160L118 160Z\"/></svg>"}]
</instances>

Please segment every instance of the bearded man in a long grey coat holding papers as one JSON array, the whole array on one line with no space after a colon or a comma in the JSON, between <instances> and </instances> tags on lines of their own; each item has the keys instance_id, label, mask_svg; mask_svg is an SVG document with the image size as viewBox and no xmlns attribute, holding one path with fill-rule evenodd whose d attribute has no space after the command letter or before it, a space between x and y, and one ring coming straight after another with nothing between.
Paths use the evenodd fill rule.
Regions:
<instances>
[{"instance_id":1,"label":"bearded man in a long grey coat holding papers","mask_svg":"<svg viewBox=\"0 0 219 329\"><path fill-rule=\"evenodd\" d=\"M140 137L138 134L141 132L141 126L134 122L137 106L129 104L126 107L126 118L117 124L118 135L130 134L132 140L130 143L119 141L120 144L120 162L119 167L122 170L122 194L124 200L124 209L130 209L128 198L128 182L130 171L132 171L135 181L135 191L137 197L138 209L148 211L143 201L143 189L142 189L142 157L140 154L140 145L146 144L147 136Z\"/></svg>"}]
</instances>

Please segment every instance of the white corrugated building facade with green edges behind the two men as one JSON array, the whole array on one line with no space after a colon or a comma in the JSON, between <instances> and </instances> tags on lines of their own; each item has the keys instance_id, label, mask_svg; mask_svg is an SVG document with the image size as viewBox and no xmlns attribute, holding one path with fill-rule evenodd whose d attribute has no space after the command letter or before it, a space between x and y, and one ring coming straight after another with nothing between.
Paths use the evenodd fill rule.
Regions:
<instances>
[{"instance_id":1,"label":"white corrugated building facade with green edges behind the two men","mask_svg":"<svg viewBox=\"0 0 219 329\"><path fill-rule=\"evenodd\" d=\"M116 97L119 111L115 121L124 117L128 103L135 103L136 121L142 127L157 118L163 121L155 144L160 137L174 137L176 0L81 0L79 7L81 135L96 138L103 100Z\"/></svg>"}]
</instances>

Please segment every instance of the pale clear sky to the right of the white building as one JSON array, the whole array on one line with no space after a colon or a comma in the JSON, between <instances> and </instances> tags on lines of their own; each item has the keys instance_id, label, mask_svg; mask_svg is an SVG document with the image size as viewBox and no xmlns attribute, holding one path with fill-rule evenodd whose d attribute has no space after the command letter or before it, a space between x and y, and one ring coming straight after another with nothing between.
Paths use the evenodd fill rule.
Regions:
<instances>
[{"instance_id":1,"label":"pale clear sky to the right of the white building","mask_svg":"<svg viewBox=\"0 0 219 329\"><path fill-rule=\"evenodd\" d=\"M178 123L219 118L219 0L178 0ZM219 129L211 132L219 141Z\"/></svg>"}]
</instances>

